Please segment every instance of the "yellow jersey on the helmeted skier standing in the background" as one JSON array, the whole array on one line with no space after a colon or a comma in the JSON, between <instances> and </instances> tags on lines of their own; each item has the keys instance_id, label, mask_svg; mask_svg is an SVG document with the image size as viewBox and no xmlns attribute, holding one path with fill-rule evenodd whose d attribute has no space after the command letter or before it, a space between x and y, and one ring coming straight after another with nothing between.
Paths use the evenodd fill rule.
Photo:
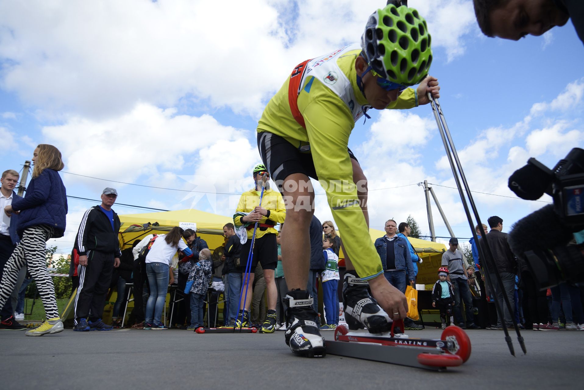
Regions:
<instances>
[{"instance_id":1,"label":"yellow jersey on the helmeted skier standing in the background","mask_svg":"<svg viewBox=\"0 0 584 390\"><path fill-rule=\"evenodd\" d=\"M245 191L241 194L239 198L239 203L237 205L236 212L243 212L243 213L251 213L256 206L259 205L259 195L260 191L256 190L249 190ZM266 189L263 191L263 198L262 198L262 207L265 208L270 212L267 217L262 217L262 219L258 222L259 224L266 224L266 221L273 221L279 224L284 223L284 219L286 218L286 207L284 206L284 200L282 199L281 194L278 191L274 191L272 189ZM245 222L241 221L241 216L237 216L234 218L235 226L245 225ZM267 224L270 224L270 222ZM251 225L253 227L253 225ZM253 235L253 229L248 229L248 238L251 238ZM268 233L277 234L277 230L275 227L258 227L256 231L256 238L260 238L263 235Z\"/></svg>"}]
</instances>

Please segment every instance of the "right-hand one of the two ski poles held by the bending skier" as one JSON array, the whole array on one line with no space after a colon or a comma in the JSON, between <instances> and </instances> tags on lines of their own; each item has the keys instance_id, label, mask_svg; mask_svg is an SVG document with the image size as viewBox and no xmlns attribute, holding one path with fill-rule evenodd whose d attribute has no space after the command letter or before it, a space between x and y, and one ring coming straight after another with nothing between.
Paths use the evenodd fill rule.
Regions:
<instances>
[{"instance_id":1,"label":"right-hand one of the two ski poles held by the bending skier","mask_svg":"<svg viewBox=\"0 0 584 390\"><path fill-rule=\"evenodd\" d=\"M442 107L440 107L440 102L437 99L436 99L436 101L434 103L436 104L436 108L438 110L438 114L440 115L440 120L443 123L444 133L446 133L446 137L447 137L447 139L449 141L450 148L451 148L452 153L453 153L453 156L454 156L454 161L456 161L456 163L457 163L458 170L460 172L460 178L463 181L464 189L467 192L468 201L471 204L472 211L475 214L475 218L477 218L478 224L481 224L481 222L479 221L480 218L479 218L479 215L478 215L477 206L474 203L474 199L473 199L472 193L470 191L470 186L468 186L467 178L464 175L463 166L460 163L460 159L458 159L458 153L456 151L456 147L454 147L454 141L452 140L452 136L450 134L450 130L448 128L448 125L446 124L446 118L444 117L444 113L442 111ZM469 223L471 225L471 231L472 231L474 229L472 229L472 221L471 221L470 215L468 215L468 217L469 217ZM481 226L482 226L482 224L481 224ZM507 297L507 294L504 293L505 288L503 287L503 280L502 280L502 278L500 276L499 270L497 269L496 263L494 262L495 257L492 254L491 247L488 245L488 238L486 237L486 235L484 236L484 238L485 238L485 243L487 244L486 245L486 250L488 252L488 257L486 258L487 259L487 262L488 262L489 259L491 259L493 261L492 264L493 264L493 269L495 270L495 272L494 272L495 278L497 280L497 284L499 285L500 291L503 292L503 302L505 303L505 305L507 307L507 310L509 311L509 315L512 318L513 328L515 328L515 333L517 334L517 341L519 342L519 345L521 346L521 349L523 350L523 353L526 354L527 353L527 350L525 348L525 343L523 341L523 337L522 337L521 332L519 330L519 325L517 325L517 323L515 323L515 321L513 321L513 310L512 310L512 307L511 307L511 302L509 301L509 297ZM502 319L504 319L504 318L505 317L503 316ZM503 325L503 328L506 328L506 326Z\"/></svg>"}]
</instances>

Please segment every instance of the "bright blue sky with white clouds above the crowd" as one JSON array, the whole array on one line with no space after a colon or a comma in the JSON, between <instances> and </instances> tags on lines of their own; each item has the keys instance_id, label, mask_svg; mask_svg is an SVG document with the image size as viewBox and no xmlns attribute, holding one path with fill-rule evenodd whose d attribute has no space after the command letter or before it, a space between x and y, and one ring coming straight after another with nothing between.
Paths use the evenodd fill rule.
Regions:
<instances>
[{"instance_id":1,"label":"bright blue sky with white clouds above the crowd","mask_svg":"<svg viewBox=\"0 0 584 390\"><path fill-rule=\"evenodd\" d=\"M359 41L384 3L0 0L0 169L20 170L49 143L64 155L70 196L99 199L112 186L133 205L117 205L119 214L232 215L259 162L255 128L267 101L298 62ZM427 19L430 73L481 218L499 215L508 231L551 201L516 199L510 173L530 156L553 166L584 144L582 43L571 22L503 41L481 35L470 0L409 5ZM418 186L427 180L454 233L471 236L429 106L371 113L349 147L369 179L372 227L411 214L429 233ZM316 215L328 220L317 193ZM92 204L69 199L59 252L71 250ZM447 236L433 211L436 234Z\"/></svg>"}]
</instances>

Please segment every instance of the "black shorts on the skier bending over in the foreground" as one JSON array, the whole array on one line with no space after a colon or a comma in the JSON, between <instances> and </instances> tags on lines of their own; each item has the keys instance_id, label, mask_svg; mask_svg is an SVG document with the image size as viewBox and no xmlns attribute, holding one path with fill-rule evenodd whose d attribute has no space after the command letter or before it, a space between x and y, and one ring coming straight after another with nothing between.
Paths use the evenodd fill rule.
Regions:
<instances>
[{"instance_id":1,"label":"black shorts on the skier bending over in the foreground","mask_svg":"<svg viewBox=\"0 0 584 390\"><path fill-rule=\"evenodd\" d=\"M258 133L258 149L262 162L267 171L270 172L274 183L277 184L280 193L284 179L293 173L302 173L318 180L312 155L308 152L301 152L283 137L267 131ZM350 158L359 162L351 149L347 148L347 152Z\"/></svg>"}]
</instances>

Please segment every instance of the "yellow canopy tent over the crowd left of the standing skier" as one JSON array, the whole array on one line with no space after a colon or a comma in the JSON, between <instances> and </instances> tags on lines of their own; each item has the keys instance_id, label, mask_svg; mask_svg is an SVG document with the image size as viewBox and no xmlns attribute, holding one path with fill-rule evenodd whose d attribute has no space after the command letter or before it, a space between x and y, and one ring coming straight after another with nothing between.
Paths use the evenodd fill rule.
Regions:
<instances>
[{"instance_id":1,"label":"yellow canopy tent over the crowd left of the standing skier","mask_svg":"<svg viewBox=\"0 0 584 390\"><path fill-rule=\"evenodd\" d=\"M228 222L233 223L230 217L193 209L125 214L119 217L121 249L131 248L135 240L143 239L148 234L166 234L173 227L180 226L196 231L198 236L207 241L209 249L213 250L224 242L223 226Z\"/></svg>"}]
</instances>

